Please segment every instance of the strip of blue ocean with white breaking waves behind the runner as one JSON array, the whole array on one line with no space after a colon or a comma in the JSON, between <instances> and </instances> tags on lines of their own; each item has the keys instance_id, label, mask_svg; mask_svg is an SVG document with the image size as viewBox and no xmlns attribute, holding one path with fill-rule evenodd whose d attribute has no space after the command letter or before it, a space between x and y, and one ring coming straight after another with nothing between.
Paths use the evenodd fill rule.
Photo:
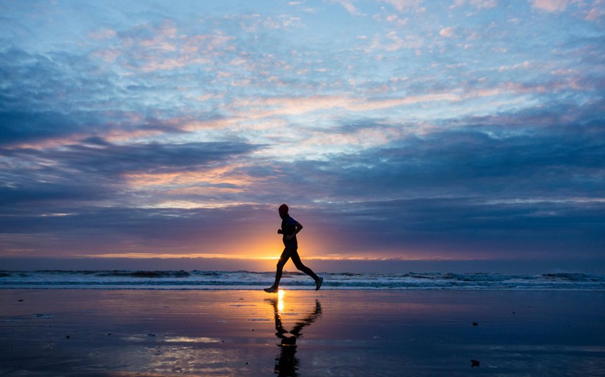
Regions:
<instances>
[{"instance_id":1,"label":"strip of blue ocean with white breaking waves behind the runner","mask_svg":"<svg viewBox=\"0 0 605 377\"><path fill-rule=\"evenodd\" d=\"M384 290L605 290L605 275L322 273L323 289ZM274 271L0 271L2 288L256 290L271 286ZM300 272L284 271L280 286L311 289L314 282Z\"/></svg>"}]
</instances>

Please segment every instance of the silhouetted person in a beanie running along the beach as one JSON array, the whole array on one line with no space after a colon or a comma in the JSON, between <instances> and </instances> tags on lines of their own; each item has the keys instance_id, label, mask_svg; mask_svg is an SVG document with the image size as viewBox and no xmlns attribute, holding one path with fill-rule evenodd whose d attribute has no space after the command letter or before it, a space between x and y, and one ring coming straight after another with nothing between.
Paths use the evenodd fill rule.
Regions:
<instances>
[{"instance_id":1,"label":"silhouetted person in a beanie running along the beach","mask_svg":"<svg viewBox=\"0 0 605 377\"><path fill-rule=\"evenodd\" d=\"M279 288L279 281L281 280L281 272L283 266L288 262L288 259L292 258L292 262L297 269L311 276L315 281L315 290L319 290L322 287L324 278L317 276L312 269L302 264L300 257L298 256L298 241L296 240L296 234L302 230L302 225L295 219L288 215L288 206L282 204L279 206L279 217L281 217L281 229L277 230L278 234L283 234L283 252L279 261L277 262L277 271L275 272L275 283L270 288L264 288L267 293L276 293Z\"/></svg>"}]
</instances>

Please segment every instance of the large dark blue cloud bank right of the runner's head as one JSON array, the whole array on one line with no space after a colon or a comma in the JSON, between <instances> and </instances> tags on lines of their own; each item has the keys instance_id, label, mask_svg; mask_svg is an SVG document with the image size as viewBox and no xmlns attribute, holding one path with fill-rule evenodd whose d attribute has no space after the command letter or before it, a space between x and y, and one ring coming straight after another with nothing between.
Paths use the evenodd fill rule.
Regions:
<instances>
[{"instance_id":1,"label":"large dark blue cloud bank right of the runner's head","mask_svg":"<svg viewBox=\"0 0 605 377\"><path fill-rule=\"evenodd\" d=\"M599 156L605 148L599 142L602 129L585 120L598 108L470 118L458 131L401 135L329 160L284 164L280 170L293 173L281 181L305 193L292 200L326 212L329 220L320 226L341 224L334 233L351 234L343 246L348 250L375 242L392 250L424 244L425 250L444 253L474 248L491 248L494 255L511 248L532 253L544 232L556 229L552 253L565 255L580 237L594 254L602 241L597 229L605 165ZM527 124L537 119L548 121L544 129L530 131ZM477 233L484 241L475 237L470 245Z\"/></svg>"}]
</instances>

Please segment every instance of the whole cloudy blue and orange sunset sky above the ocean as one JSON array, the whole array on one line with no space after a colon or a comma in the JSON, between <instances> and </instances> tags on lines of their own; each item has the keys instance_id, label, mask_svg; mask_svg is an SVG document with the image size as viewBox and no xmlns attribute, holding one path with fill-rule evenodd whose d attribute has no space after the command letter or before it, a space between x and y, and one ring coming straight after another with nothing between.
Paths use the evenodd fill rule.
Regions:
<instances>
[{"instance_id":1,"label":"whole cloudy blue and orange sunset sky above the ocean","mask_svg":"<svg viewBox=\"0 0 605 377\"><path fill-rule=\"evenodd\" d=\"M1 1L0 259L268 270L287 203L310 265L605 273L604 46L602 0Z\"/></svg>"}]
</instances>

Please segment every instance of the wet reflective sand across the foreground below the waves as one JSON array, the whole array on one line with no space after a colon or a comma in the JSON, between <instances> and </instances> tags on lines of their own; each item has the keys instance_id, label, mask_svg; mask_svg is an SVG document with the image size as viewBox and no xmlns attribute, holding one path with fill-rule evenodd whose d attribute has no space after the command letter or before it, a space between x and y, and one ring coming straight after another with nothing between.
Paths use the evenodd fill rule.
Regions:
<instances>
[{"instance_id":1,"label":"wet reflective sand across the foreground below the waves","mask_svg":"<svg viewBox=\"0 0 605 377\"><path fill-rule=\"evenodd\" d=\"M0 290L0 376L476 374L604 376L605 293Z\"/></svg>"}]
</instances>

